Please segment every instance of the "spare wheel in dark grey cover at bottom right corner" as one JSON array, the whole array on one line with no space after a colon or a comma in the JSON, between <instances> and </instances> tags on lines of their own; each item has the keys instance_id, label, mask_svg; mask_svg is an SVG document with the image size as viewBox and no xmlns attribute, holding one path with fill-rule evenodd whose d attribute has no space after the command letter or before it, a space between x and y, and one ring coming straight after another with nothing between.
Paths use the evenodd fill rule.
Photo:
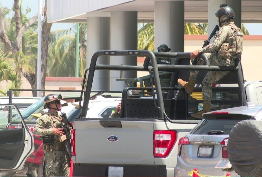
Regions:
<instances>
[{"instance_id":1,"label":"spare wheel in dark grey cover at bottom right corner","mask_svg":"<svg viewBox=\"0 0 262 177\"><path fill-rule=\"evenodd\" d=\"M262 176L262 121L238 122L228 137L228 158L240 176Z\"/></svg>"}]
</instances>

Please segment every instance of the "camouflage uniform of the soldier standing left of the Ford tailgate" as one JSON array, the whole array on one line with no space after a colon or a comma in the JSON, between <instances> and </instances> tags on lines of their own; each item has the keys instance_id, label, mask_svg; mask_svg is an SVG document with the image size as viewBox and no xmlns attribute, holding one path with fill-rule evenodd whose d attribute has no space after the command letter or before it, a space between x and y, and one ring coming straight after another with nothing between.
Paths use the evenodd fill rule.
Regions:
<instances>
[{"instance_id":1,"label":"camouflage uniform of the soldier standing left of the Ford tailgate","mask_svg":"<svg viewBox=\"0 0 262 177\"><path fill-rule=\"evenodd\" d=\"M52 128L61 128L63 119L58 113L49 111L40 116L34 126L34 135L45 136L52 134ZM47 176L69 176L69 168L65 157L63 143L59 141L60 136L54 135L54 144L43 144L45 150L45 172Z\"/></svg>"}]
</instances>

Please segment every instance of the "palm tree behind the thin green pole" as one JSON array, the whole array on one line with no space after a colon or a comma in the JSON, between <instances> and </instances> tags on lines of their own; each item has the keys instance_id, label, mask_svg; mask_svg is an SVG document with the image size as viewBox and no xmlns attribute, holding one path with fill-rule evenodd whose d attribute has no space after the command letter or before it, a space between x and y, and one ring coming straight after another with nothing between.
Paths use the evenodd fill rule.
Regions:
<instances>
[{"instance_id":1,"label":"palm tree behind the thin green pole","mask_svg":"<svg viewBox=\"0 0 262 177\"><path fill-rule=\"evenodd\" d=\"M73 26L73 29L76 25ZM86 68L86 24L79 25L79 76ZM73 33L73 34L72 34ZM47 74L50 77L74 77L76 58L76 32L59 30L51 33ZM66 72L65 72L66 71Z\"/></svg>"}]
</instances>

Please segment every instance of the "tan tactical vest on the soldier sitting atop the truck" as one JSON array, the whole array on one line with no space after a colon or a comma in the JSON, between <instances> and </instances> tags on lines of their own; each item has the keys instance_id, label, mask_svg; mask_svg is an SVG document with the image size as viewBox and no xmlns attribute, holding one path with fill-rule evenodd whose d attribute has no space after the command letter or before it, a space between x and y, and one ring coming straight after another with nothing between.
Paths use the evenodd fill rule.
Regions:
<instances>
[{"instance_id":1,"label":"tan tactical vest on the soldier sitting atop the truck","mask_svg":"<svg viewBox=\"0 0 262 177\"><path fill-rule=\"evenodd\" d=\"M243 51L243 37L244 37L244 33L236 25L231 25L231 24L229 24L229 25L234 30L235 39L234 39L233 43L231 44L231 46L229 46L228 53L231 56L241 55L242 51Z\"/></svg>"}]
</instances>

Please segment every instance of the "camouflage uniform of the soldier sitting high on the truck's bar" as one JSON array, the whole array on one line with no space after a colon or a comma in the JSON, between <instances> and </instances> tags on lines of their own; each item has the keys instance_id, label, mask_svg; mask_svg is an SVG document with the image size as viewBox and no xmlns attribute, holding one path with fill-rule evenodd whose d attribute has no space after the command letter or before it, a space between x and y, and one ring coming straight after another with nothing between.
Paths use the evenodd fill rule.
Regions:
<instances>
[{"instance_id":1,"label":"camouflage uniform of the soldier sitting high on the truck's bar","mask_svg":"<svg viewBox=\"0 0 262 177\"><path fill-rule=\"evenodd\" d=\"M236 25L234 25L234 22L232 20L226 21L222 25L220 30L218 31L214 42L198 50L199 54L205 53L207 55L210 65L234 66L237 55L231 55L230 52L228 53L227 57L224 57L224 58L219 57L218 55L220 46L222 44L228 43L229 46L231 46L233 41L235 41L236 37L235 37L234 29L239 29L239 28ZM243 43L239 45L243 46ZM193 60L191 59L190 65L192 65L192 62ZM204 61L200 59L197 65L204 65ZM202 81L202 94L203 94L204 103L209 104L209 105L211 104L213 85L217 81L219 81L222 77L224 77L226 74L228 74L228 72L229 71L222 71L222 72L221 71L209 71L206 74L205 78ZM197 74L198 74L198 71L191 71L190 79L196 81Z\"/></svg>"}]
</instances>

